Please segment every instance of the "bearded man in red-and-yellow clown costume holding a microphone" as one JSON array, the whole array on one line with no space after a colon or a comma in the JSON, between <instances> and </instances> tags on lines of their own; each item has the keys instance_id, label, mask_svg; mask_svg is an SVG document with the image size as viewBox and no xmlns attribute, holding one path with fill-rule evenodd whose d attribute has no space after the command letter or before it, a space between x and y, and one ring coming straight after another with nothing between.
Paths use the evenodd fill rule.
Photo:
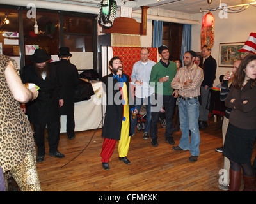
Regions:
<instances>
[{"instance_id":1,"label":"bearded man in red-and-yellow clown costume holding a microphone","mask_svg":"<svg viewBox=\"0 0 256 204\"><path fill-rule=\"evenodd\" d=\"M122 62L119 57L113 57L109 61L109 69L112 73L102 78L107 94L107 108L102 128L104 142L100 156L105 170L109 170L109 159L115 149L116 140L119 140L119 160L125 164L131 164L127 159L131 139L130 112L138 113L129 91L131 90L129 76L122 72ZM132 101L131 105L129 99Z\"/></svg>"}]
</instances>

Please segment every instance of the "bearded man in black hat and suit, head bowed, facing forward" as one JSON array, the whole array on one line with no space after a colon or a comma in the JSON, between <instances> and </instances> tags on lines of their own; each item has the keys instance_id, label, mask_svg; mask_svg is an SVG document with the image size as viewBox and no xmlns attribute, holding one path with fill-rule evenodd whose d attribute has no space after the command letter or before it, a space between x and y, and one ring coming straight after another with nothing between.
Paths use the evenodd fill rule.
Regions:
<instances>
[{"instance_id":1,"label":"bearded man in black hat and suit, head bowed, facing forward","mask_svg":"<svg viewBox=\"0 0 256 204\"><path fill-rule=\"evenodd\" d=\"M45 50L36 49L33 55L29 56L28 64L22 69L22 82L34 83L39 89L38 98L26 104L26 113L29 121L33 124L37 146L36 161L44 161L45 141L44 129L47 125L49 156L65 157L58 151L60 140L60 115L59 106L63 105L56 66L49 63L51 55Z\"/></svg>"}]
</instances>

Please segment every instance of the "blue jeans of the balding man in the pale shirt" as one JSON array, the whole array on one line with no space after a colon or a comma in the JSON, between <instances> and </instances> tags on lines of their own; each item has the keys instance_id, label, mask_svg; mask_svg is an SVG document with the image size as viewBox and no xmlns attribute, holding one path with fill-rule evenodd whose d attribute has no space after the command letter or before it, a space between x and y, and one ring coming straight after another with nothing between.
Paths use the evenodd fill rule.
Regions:
<instances>
[{"instance_id":1,"label":"blue jeans of the balding man in the pale shirt","mask_svg":"<svg viewBox=\"0 0 256 204\"><path fill-rule=\"evenodd\" d=\"M143 133L149 133L150 122L151 122L151 107L152 107L152 103L150 102L150 97L148 97L148 98L135 97L134 101L135 101L135 107L137 108L138 113L140 113L140 109L141 109L141 106L143 105L143 103L145 103L145 105L146 105L147 115L146 115L146 124L145 124ZM131 119L132 134L135 132L135 126L137 124L137 117L138 117L138 114L136 115L135 119Z\"/></svg>"}]
</instances>

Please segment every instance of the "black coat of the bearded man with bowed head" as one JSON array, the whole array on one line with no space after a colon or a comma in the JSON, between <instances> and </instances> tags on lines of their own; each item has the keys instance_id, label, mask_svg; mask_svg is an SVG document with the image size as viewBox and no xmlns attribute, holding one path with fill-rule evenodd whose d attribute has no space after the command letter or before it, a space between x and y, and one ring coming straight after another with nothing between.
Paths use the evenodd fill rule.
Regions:
<instances>
[{"instance_id":1,"label":"black coat of the bearded man with bowed head","mask_svg":"<svg viewBox=\"0 0 256 204\"><path fill-rule=\"evenodd\" d=\"M60 120L58 113L59 99L62 99L62 97L58 86L56 66L49 63L49 76L43 80L36 73L33 64L29 64L22 69L21 78L24 84L35 83L40 87L38 98L26 104L29 121L42 125L49 122L58 122Z\"/></svg>"}]
</instances>

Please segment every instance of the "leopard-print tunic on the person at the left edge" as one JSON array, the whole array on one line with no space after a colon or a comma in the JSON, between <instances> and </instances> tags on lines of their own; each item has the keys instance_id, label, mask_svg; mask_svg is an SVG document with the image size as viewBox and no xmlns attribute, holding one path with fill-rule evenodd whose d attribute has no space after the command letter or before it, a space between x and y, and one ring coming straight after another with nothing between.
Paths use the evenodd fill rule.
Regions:
<instances>
[{"instance_id":1,"label":"leopard-print tunic on the person at the left edge","mask_svg":"<svg viewBox=\"0 0 256 204\"><path fill-rule=\"evenodd\" d=\"M35 142L28 118L13 98L4 71L10 61L19 73L17 63L0 54L0 165L3 172L22 163L30 150L36 163Z\"/></svg>"}]
</instances>

